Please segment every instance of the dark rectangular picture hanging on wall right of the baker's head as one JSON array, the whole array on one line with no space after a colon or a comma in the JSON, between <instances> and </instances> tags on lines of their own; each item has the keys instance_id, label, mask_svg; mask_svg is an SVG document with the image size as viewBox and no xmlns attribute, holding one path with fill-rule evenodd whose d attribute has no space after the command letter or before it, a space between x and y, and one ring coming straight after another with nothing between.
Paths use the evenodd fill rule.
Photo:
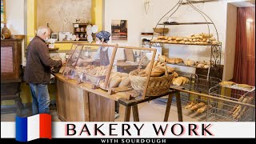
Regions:
<instances>
[{"instance_id":1,"label":"dark rectangular picture hanging on wall right of the baker's head","mask_svg":"<svg viewBox=\"0 0 256 144\"><path fill-rule=\"evenodd\" d=\"M127 20L112 20L111 33L112 40L124 40L128 38Z\"/></svg>"}]
</instances>

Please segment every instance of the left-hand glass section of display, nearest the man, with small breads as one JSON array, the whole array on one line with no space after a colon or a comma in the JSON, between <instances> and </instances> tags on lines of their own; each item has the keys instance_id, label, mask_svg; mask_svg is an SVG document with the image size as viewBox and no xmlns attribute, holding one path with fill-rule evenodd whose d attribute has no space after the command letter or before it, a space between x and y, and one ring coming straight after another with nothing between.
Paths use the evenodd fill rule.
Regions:
<instances>
[{"instance_id":1,"label":"left-hand glass section of display, nearest the man, with small breads","mask_svg":"<svg viewBox=\"0 0 256 144\"><path fill-rule=\"evenodd\" d=\"M98 86L100 81L105 82L109 77L116 49L116 46L110 45L73 45L62 74L66 78L78 80L78 83L87 82Z\"/></svg>"}]
</instances>

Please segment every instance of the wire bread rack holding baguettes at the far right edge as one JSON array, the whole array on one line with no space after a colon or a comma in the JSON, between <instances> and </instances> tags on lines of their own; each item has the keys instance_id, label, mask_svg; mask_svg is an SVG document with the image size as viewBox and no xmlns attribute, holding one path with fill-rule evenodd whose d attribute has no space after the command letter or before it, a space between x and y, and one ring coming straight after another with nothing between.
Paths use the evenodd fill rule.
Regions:
<instances>
[{"instance_id":1,"label":"wire bread rack holding baguettes at the far right edge","mask_svg":"<svg viewBox=\"0 0 256 144\"><path fill-rule=\"evenodd\" d=\"M242 102L255 106L255 89L238 90L234 87L214 86L209 95L230 101L208 99L206 121L209 122L255 122L255 107L244 106Z\"/></svg>"}]
</instances>

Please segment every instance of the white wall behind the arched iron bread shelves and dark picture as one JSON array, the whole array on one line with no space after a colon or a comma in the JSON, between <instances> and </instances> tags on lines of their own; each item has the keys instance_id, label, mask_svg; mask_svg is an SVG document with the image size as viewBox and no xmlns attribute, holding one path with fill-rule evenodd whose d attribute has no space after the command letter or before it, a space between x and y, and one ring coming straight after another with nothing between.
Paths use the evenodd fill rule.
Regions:
<instances>
[{"instance_id":1,"label":"white wall behind the arched iron bread shelves and dark picture","mask_svg":"<svg viewBox=\"0 0 256 144\"><path fill-rule=\"evenodd\" d=\"M112 19L128 20L128 41L113 41L120 45L140 46L140 34L142 32L153 32L153 27L158 20L168 12L178 0L150 0L150 11L145 13L143 1L138 0L106 0L105 2L105 30L111 31ZM222 42L222 64L224 64L224 52L226 46L226 6L227 1L206 2L195 4L199 10L206 13L215 23L219 40ZM178 22L204 22L200 14L190 6L182 6L174 14ZM170 34L173 36L189 36L190 34L207 32L206 25L198 26L169 26ZM216 36L214 27L210 26L210 32ZM209 61L210 48L206 46L178 46L169 45L169 57L179 57L183 59L193 59L195 61ZM193 72L194 69L186 69Z\"/></svg>"}]
</instances>

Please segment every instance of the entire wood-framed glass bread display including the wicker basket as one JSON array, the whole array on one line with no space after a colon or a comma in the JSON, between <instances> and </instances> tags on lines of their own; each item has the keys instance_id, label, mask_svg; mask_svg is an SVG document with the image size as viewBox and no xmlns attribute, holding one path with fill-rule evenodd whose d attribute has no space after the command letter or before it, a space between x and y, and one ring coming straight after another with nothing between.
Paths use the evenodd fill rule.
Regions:
<instances>
[{"instance_id":1,"label":"entire wood-framed glass bread display including the wicker basket","mask_svg":"<svg viewBox=\"0 0 256 144\"><path fill-rule=\"evenodd\" d=\"M159 96L170 89L173 72L155 61L156 49L118 45L73 45L63 75L109 94Z\"/></svg>"}]
</instances>

